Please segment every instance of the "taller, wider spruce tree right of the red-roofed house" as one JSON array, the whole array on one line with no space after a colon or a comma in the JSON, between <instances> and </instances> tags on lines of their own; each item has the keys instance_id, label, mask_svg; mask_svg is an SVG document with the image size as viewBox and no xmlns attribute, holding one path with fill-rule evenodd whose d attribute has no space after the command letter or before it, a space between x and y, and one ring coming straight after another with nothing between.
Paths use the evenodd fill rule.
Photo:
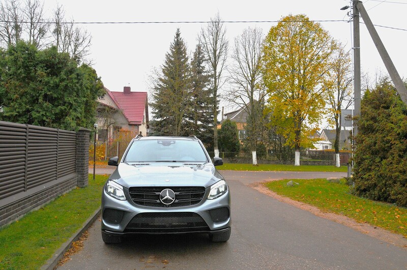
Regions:
<instances>
[{"instance_id":1,"label":"taller, wider spruce tree right of the red-roofed house","mask_svg":"<svg viewBox=\"0 0 407 270\"><path fill-rule=\"evenodd\" d=\"M190 109L191 72L187 49L177 29L161 74L153 86L154 135L182 136L186 131L185 115Z\"/></svg>"}]
</instances>

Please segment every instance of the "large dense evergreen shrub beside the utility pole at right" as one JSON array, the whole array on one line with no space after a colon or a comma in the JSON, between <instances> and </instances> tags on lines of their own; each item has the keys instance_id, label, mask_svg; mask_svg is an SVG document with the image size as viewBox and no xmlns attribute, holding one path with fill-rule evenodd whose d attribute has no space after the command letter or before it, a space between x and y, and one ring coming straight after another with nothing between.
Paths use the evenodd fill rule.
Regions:
<instances>
[{"instance_id":1,"label":"large dense evergreen shrub beside the utility pole at right","mask_svg":"<svg viewBox=\"0 0 407 270\"><path fill-rule=\"evenodd\" d=\"M407 106L388 79L362 100L355 153L355 192L407 206Z\"/></svg>"}]
</instances>

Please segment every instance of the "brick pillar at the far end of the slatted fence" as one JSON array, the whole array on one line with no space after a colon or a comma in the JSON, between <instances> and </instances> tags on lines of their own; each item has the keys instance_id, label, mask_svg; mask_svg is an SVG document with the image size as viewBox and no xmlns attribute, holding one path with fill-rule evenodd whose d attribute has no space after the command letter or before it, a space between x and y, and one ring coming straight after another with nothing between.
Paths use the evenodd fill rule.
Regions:
<instances>
[{"instance_id":1,"label":"brick pillar at the far end of the slatted fence","mask_svg":"<svg viewBox=\"0 0 407 270\"><path fill-rule=\"evenodd\" d=\"M76 132L76 165L78 174L77 186L84 188L88 186L89 173L89 137L91 130L80 128Z\"/></svg>"}]
</instances>

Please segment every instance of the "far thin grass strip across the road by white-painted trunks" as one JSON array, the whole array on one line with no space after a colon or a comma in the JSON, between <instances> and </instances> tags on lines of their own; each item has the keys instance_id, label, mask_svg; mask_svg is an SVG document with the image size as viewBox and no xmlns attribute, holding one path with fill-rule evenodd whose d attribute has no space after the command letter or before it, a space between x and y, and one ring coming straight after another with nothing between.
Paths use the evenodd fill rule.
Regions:
<instances>
[{"instance_id":1,"label":"far thin grass strip across the road by white-painted trunks","mask_svg":"<svg viewBox=\"0 0 407 270\"><path fill-rule=\"evenodd\" d=\"M324 165L278 165L278 164L259 164L253 166L252 164L238 164L227 163L222 166L216 167L218 170L234 170L234 171L327 171L327 172L346 172L347 167L341 166L339 168L335 166Z\"/></svg>"}]
</instances>

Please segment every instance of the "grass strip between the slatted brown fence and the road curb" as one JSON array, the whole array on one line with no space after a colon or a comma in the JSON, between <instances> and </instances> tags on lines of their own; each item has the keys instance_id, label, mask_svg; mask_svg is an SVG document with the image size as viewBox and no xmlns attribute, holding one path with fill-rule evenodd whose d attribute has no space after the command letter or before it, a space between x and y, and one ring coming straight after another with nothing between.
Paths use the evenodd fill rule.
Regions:
<instances>
[{"instance_id":1,"label":"grass strip between the slatted brown fence and the road curb","mask_svg":"<svg viewBox=\"0 0 407 270\"><path fill-rule=\"evenodd\" d=\"M100 206L107 175L0 229L0 269L38 269Z\"/></svg>"}]
</instances>

